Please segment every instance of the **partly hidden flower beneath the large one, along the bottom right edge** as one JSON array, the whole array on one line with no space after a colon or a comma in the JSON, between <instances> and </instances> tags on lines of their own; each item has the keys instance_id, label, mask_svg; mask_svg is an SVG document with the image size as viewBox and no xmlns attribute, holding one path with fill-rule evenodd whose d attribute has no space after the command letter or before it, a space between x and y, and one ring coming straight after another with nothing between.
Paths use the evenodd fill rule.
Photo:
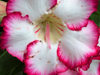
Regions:
<instances>
[{"instance_id":1,"label":"partly hidden flower beneath the large one, along the bottom right edge","mask_svg":"<svg viewBox=\"0 0 100 75\"><path fill-rule=\"evenodd\" d=\"M100 74L100 56L92 59L91 64L88 66L87 70L83 70L80 68L79 71L75 70L67 70L63 73L59 73L58 75L99 75Z\"/></svg>"}]
</instances>

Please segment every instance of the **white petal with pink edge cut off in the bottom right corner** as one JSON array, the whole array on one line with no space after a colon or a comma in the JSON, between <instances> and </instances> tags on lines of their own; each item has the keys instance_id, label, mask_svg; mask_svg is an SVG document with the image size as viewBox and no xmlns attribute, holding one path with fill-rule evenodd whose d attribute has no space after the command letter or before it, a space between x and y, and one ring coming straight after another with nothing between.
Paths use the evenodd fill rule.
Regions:
<instances>
[{"instance_id":1,"label":"white petal with pink edge cut off in the bottom right corner","mask_svg":"<svg viewBox=\"0 0 100 75\"><path fill-rule=\"evenodd\" d=\"M80 70L81 75L100 75L100 60L93 60L87 71Z\"/></svg>"}]
</instances>

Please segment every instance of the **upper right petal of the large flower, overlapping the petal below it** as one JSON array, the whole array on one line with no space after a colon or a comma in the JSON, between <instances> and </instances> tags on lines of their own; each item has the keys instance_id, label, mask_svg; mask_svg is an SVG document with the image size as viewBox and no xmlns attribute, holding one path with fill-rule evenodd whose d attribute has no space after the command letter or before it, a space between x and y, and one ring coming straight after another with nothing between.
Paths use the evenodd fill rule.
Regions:
<instances>
[{"instance_id":1,"label":"upper right petal of the large flower, overlapping the petal below it","mask_svg":"<svg viewBox=\"0 0 100 75\"><path fill-rule=\"evenodd\" d=\"M61 0L54 11L71 30L87 25L89 16L97 10L97 0Z\"/></svg>"}]
</instances>

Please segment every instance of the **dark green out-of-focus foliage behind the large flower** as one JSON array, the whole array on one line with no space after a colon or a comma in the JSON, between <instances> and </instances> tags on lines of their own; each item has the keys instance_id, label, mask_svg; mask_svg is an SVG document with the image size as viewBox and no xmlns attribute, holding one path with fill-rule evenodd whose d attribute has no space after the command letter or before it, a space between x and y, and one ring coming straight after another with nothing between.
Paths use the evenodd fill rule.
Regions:
<instances>
[{"instance_id":1,"label":"dark green out-of-focus foliage behind the large flower","mask_svg":"<svg viewBox=\"0 0 100 75\"><path fill-rule=\"evenodd\" d=\"M7 2L8 0L0 0ZM5 15L5 14L4 14ZM93 13L90 17L94 20L97 26L100 27L100 0L98 11ZM0 27L0 35L3 29ZM7 51L0 49L0 75L26 75L23 73L24 64L17 58L12 57Z\"/></svg>"}]
</instances>

